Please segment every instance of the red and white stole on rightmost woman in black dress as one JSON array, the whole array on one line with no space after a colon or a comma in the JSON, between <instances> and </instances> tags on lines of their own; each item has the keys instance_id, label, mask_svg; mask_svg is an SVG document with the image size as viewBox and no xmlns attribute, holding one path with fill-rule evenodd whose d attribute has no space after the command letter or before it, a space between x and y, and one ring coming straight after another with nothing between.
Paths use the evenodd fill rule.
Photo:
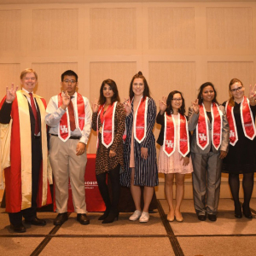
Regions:
<instances>
[{"instance_id":1,"label":"red and white stole on rightmost woman in black dress","mask_svg":"<svg viewBox=\"0 0 256 256\"><path fill-rule=\"evenodd\" d=\"M227 119L230 125L230 144L235 146L238 141L238 135L236 131L236 120L234 117L234 107L229 105L229 102L226 102L226 113ZM242 130L245 135L250 140L253 140L255 137L255 124L253 122L253 113L249 107L249 100L246 96L243 97L240 105L240 113L241 113L241 125Z\"/></svg>"}]
</instances>

